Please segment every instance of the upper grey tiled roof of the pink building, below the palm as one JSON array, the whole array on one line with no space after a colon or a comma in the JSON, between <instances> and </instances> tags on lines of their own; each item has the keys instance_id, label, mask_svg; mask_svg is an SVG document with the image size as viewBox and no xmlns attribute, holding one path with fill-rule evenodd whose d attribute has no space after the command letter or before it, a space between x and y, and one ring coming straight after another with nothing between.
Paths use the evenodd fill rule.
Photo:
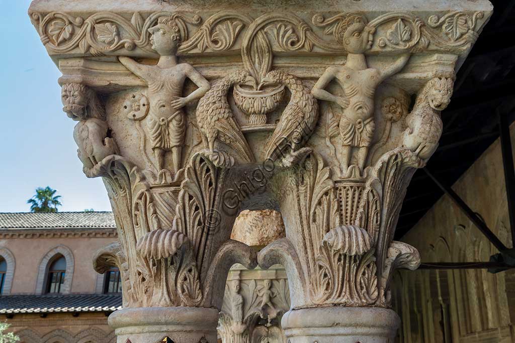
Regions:
<instances>
[{"instance_id":1,"label":"upper grey tiled roof of the pink building, below the palm","mask_svg":"<svg viewBox=\"0 0 515 343\"><path fill-rule=\"evenodd\" d=\"M0 213L0 229L116 227L112 212Z\"/></svg>"}]
</instances>

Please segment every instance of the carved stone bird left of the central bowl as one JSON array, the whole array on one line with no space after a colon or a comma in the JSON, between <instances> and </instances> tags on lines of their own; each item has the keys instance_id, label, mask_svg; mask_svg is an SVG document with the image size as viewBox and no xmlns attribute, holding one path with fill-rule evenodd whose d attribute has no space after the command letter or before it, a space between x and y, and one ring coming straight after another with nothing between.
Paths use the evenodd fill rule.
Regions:
<instances>
[{"instance_id":1,"label":"carved stone bird left of the central bowl","mask_svg":"<svg viewBox=\"0 0 515 343\"><path fill-rule=\"evenodd\" d=\"M254 161L254 155L250 150L242 130L234 120L231 106L227 101L229 88L237 83L245 83L253 80L246 71L237 71L211 87L211 89L199 100L197 106L197 123L202 134L202 140L213 152L215 140L218 138L244 158L245 161Z\"/></svg>"}]
</instances>

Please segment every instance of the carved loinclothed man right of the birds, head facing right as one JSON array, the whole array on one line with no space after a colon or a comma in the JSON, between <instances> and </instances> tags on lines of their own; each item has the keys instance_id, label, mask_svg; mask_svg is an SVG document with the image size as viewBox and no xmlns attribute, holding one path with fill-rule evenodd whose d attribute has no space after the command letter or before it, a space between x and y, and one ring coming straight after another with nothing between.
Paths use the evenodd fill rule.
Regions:
<instances>
[{"instance_id":1,"label":"carved loinclothed man right of the birds, head facing right","mask_svg":"<svg viewBox=\"0 0 515 343\"><path fill-rule=\"evenodd\" d=\"M365 51L372 47L375 28L366 25L361 15L351 15L340 26L342 44L346 48L347 62L342 66L331 66L325 70L312 89L312 94L320 100L332 101L340 105L339 130L341 149L339 162L342 175L347 173L353 148L357 149L357 164L363 171L368 149L372 142L375 123L373 120L375 89L381 82L398 73L409 59L403 55L386 68L369 68ZM343 88L344 96L339 97L325 91L325 87L335 79Z\"/></svg>"}]
</instances>

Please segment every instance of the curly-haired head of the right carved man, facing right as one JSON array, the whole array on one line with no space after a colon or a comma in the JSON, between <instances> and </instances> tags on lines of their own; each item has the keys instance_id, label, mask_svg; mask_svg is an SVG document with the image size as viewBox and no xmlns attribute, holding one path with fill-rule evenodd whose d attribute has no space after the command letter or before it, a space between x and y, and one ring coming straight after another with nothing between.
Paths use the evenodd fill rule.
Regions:
<instances>
[{"instance_id":1,"label":"curly-haired head of the right carved man, facing right","mask_svg":"<svg viewBox=\"0 0 515 343\"><path fill-rule=\"evenodd\" d=\"M350 53L364 53L372 47L375 28L362 15L349 15L337 27L341 43Z\"/></svg>"}]
</instances>

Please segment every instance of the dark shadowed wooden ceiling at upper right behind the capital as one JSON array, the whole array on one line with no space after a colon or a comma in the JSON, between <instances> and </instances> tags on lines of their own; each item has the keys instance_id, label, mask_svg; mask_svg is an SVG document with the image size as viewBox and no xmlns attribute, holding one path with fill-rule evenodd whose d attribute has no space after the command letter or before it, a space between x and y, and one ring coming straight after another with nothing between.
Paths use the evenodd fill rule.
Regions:
<instances>
[{"instance_id":1,"label":"dark shadowed wooden ceiling at upper right behind the capital","mask_svg":"<svg viewBox=\"0 0 515 343\"><path fill-rule=\"evenodd\" d=\"M440 146L426 166L445 185L453 185L499 138L497 113L508 116L510 123L515 119L515 0L490 1L493 15L458 71L452 101L442 112ZM442 195L418 170L404 199L396 239Z\"/></svg>"}]
</instances>

